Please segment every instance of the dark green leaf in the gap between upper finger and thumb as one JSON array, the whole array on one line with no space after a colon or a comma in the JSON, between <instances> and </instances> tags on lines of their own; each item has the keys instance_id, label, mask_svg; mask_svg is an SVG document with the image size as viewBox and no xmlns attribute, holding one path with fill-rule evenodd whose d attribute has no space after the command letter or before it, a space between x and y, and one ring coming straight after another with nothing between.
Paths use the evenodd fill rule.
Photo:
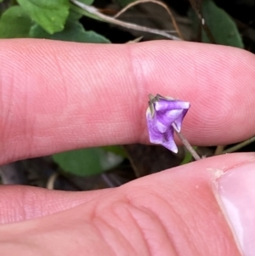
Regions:
<instances>
[{"instance_id":1,"label":"dark green leaf in the gap between upper finger and thumb","mask_svg":"<svg viewBox=\"0 0 255 256\"><path fill-rule=\"evenodd\" d=\"M121 156L101 148L62 152L53 155L53 159L65 172L80 176L103 173L123 160Z\"/></svg>"}]
</instances>

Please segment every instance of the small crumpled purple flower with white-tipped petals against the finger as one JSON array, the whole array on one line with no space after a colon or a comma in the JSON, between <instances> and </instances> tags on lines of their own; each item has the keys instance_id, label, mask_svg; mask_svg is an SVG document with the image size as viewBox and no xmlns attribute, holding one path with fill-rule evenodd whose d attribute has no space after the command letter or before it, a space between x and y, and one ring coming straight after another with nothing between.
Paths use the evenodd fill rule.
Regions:
<instances>
[{"instance_id":1,"label":"small crumpled purple flower with white-tipped petals against the finger","mask_svg":"<svg viewBox=\"0 0 255 256\"><path fill-rule=\"evenodd\" d=\"M150 142L160 144L174 153L178 148L173 140L173 130L180 132L182 122L190 108L190 102L149 95L146 111Z\"/></svg>"}]
</instances>

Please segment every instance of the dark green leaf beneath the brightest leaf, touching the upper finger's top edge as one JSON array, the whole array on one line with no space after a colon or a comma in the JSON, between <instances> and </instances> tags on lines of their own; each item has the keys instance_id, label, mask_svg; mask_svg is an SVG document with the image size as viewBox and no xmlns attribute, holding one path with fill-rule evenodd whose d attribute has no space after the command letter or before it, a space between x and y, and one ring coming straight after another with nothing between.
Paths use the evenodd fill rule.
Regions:
<instances>
[{"instance_id":1,"label":"dark green leaf beneath the brightest leaf, touching the upper finger's top edge","mask_svg":"<svg viewBox=\"0 0 255 256\"><path fill-rule=\"evenodd\" d=\"M61 41L71 41L80 43L111 43L105 37L97 34L94 31L85 31L82 24L77 20L68 20L63 31L48 34L40 26L35 25L31 27L31 37L47 38Z\"/></svg>"}]
</instances>

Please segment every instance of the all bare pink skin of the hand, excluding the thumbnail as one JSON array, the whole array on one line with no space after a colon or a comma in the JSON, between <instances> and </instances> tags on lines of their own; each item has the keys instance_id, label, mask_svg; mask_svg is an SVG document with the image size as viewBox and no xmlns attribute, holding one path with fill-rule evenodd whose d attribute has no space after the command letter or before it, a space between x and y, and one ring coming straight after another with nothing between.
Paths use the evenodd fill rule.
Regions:
<instances>
[{"instance_id":1,"label":"all bare pink skin of the hand, excluding the thumbnail","mask_svg":"<svg viewBox=\"0 0 255 256\"><path fill-rule=\"evenodd\" d=\"M148 94L190 101L183 133L191 144L254 135L255 58L241 49L2 40L0 67L1 164L148 143ZM240 255L208 169L254 161L252 153L214 156L102 191L1 186L0 254Z\"/></svg>"}]
</instances>

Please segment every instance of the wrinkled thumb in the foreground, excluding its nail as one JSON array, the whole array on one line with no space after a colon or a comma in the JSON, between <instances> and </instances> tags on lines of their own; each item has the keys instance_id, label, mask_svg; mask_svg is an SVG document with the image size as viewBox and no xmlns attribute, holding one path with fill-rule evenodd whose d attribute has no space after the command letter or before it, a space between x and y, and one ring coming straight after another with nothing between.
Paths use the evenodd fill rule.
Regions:
<instances>
[{"instance_id":1,"label":"wrinkled thumb in the foreground, excluding its nail","mask_svg":"<svg viewBox=\"0 0 255 256\"><path fill-rule=\"evenodd\" d=\"M11 229L2 225L0 253L12 246L26 255L26 248L35 247L40 237L34 254L54 250L65 255L75 247L77 254L90 255L239 256L212 191L212 170L231 172L254 160L254 154L214 156L136 179L77 207L12 224ZM86 192L79 196L86 197ZM42 198L38 203L45 202Z\"/></svg>"}]
</instances>

